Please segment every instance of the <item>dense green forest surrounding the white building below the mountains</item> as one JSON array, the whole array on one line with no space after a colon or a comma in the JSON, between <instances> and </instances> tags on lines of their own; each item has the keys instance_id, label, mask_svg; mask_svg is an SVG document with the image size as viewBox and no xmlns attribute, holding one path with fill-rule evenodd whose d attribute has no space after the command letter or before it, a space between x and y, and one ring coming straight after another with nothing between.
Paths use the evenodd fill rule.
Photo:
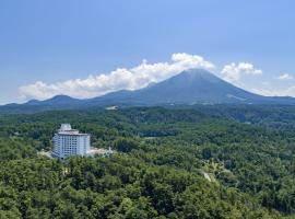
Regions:
<instances>
[{"instance_id":1,"label":"dense green forest surrounding the white building below the mountains","mask_svg":"<svg viewBox=\"0 0 295 219\"><path fill-rule=\"evenodd\" d=\"M110 158L40 155L61 123ZM295 218L295 107L0 115L0 218Z\"/></svg>"}]
</instances>

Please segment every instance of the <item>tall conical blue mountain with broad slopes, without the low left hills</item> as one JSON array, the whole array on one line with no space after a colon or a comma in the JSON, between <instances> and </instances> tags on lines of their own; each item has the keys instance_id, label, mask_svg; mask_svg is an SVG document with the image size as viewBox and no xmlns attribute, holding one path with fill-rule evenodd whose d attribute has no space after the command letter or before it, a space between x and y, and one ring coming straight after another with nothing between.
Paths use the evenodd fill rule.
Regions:
<instances>
[{"instance_id":1,"label":"tall conical blue mountain with broad slopes, without the low left hills","mask_svg":"<svg viewBox=\"0 0 295 219\"><path fill-rule=\"evenodd\" d=\"M295 104L292 97L270 97L239 89L203 69L191 69L135 91L119 91L93 99L91 104Z\"/></svg>"}]
</instances>

